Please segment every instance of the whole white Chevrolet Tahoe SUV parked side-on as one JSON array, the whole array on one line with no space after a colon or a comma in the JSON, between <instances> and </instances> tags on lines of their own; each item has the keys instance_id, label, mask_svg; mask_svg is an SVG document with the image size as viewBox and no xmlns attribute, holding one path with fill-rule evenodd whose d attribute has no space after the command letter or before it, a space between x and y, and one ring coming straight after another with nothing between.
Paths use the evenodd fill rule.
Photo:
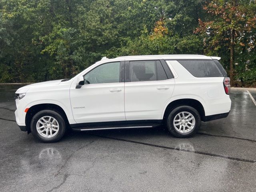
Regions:
<instances>
[{"instance_id":1,"label":"whole white Chevrolet Tahoe SUV parked side-on","mask_svg":"<svg viewBox=\"0 0 256 192\"><path fill-rule=\"evenodd\" d=\"M68 128L153 128L176 137L200 122L228 116L230 79L219 57L150 55L106 57L72 79L35 83L16 91L16 122L43 142Z\"/></svg>"}]
</instances>

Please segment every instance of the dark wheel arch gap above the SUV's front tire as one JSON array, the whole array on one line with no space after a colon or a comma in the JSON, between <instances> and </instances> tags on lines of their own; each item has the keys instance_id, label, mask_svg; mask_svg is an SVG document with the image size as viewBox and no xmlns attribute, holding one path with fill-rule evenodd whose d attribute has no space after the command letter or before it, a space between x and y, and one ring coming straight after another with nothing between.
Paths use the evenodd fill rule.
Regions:
<instances>
[{"instance_id":1,"label":"dark wheel arch gap above the SUV's front tire","mask_svg":"<svg viewBox=\"0 0 256 192\"><path fill-rule=\"evenodd\" d=\"M47 110L47 109L48 110L54 110L54 111L60 113L62 115L62 117L64 118L66 125L69 126L69 121L68 121L67 115L66 115L66 113L65 113L65 111L63 110L62 107L60 107L57 104L52 104L52 103L36 104L36 105L31 106L28 109L28 111L26 112L25 124L26 124L26 130L28 131L28 133L31 132L30 122L31 122L33 116L37 112L39 112L41 110Z\"/></svg>"}]
</instances>

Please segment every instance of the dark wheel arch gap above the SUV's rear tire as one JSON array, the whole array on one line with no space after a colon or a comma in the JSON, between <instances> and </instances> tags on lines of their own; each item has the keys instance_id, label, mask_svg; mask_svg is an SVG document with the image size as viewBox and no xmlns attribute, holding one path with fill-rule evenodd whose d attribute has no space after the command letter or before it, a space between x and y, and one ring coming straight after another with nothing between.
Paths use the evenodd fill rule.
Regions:
<instances>
[{"instance_id":1,"label":"dark wheel arch gap above the SUV's rear tire","mask_svg":"<svg viewBox=\"0 0 256 192\"><path fill-rule=\"evenodd\" d=\"M177 99L177 100L170 102L164 110L163 120L166 119L166 117L168 116L170 111L172 111L174 108L176 108L178 106L182 106L182 105L191 106L191 107L195 108L198 111L198 113L200 114L201 120L204 121L204 119L205 119L204 106L202 105L202 103L200 101L198 101L196 99L191 99L191 98L182 98L182 99Z\"/></svg>"}]
</instances>

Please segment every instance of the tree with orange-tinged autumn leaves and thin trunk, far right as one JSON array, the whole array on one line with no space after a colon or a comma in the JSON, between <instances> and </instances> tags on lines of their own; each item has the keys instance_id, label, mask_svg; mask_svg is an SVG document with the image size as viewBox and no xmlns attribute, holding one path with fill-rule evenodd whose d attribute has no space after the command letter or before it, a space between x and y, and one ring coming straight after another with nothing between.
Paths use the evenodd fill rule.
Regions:
<instances>
[{"instance_id":1,"label":"tree with orange-tinged autumn leaves and thin trunk, far right","mask_svg":"<svg viewBox=\"0 0 256 192\"><path fill-rule=\"evenodd\" d=\"M255 45L255 34L252 29L256 27L255 2L252 0L213 0L203 6L208 13L205 21L199 20L199 27L195 33L201 33L208 38L206 47L210 50L220 50L228 47L230 52L230 81L234 84L234 51L241 52L245 44Z\"/></svg>"}]
</instances>

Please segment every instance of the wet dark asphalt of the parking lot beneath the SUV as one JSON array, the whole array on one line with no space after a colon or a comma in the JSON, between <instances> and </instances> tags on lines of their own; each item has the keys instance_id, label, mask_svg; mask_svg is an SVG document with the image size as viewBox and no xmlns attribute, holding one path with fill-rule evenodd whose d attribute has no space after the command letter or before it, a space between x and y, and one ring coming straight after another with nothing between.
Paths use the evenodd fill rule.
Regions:
<instances>
[{"instance_id":1,"label":"wet dark asphalt of the parking lot beneath the SUV","mask_svg":"<svg viewBox=\"0 0 256 192\"><path fill-rule=\"evenodd\" d=\"M256 191L256 106L246 90L231 90L229 116L202 122L192 138L159 127L69 132L45 144L15 122L19 87L0 85L1 192Z\"/></svg>"}]
</instances>

